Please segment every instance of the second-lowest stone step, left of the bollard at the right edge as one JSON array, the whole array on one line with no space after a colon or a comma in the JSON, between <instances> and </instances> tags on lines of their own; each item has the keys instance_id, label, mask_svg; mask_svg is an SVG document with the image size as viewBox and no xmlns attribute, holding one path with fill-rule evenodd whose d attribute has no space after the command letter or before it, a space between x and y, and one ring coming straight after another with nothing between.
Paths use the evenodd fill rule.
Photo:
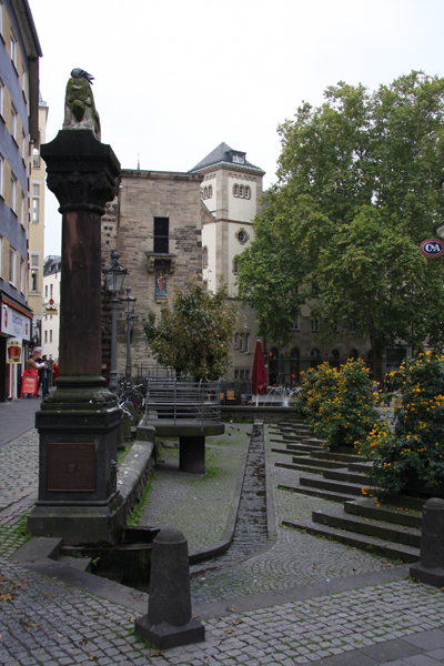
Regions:
<instances>
[{"instance_id":1,"label":"second-lowest stone step, left of the bollard at the right edge","mask_svg":"<svg viewBox=\"0 0 444 666\"><path fill-rule=\"evenodd\" d=\"M364 534L417 549L421 548L421 529L347 514L342 506L332 507L327 512L314 511L312 521L354 534Z\"/></svg>"}]
</instances>

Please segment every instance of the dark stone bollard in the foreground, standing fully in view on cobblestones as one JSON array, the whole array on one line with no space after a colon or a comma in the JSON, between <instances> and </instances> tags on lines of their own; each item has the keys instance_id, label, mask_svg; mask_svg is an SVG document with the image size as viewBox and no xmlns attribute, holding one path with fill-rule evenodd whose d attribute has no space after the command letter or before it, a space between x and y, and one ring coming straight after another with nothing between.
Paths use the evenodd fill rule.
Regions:
<instances>
[{"instance_id":1,"label":"dark stone bollard in the foreground, standing fully in view on cobblestones","mask_svg":"<svg viewBox=\"0 0 444 666\"><path fill-rule=\"evenodd\" d=\"M179 529L165 527L153 541L148 614L134 628L159 649L205 639L205 627L191 615L188 542Z\"/></svg>"}]
</instances>

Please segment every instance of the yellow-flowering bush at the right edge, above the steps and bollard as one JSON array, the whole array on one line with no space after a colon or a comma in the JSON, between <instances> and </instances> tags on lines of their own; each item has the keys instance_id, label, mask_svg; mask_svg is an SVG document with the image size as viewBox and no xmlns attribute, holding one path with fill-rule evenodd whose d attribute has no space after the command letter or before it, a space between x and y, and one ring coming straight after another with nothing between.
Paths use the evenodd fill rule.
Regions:
<instances>
[{"instance_id":1,"label":"yellow-flowering bush at the right edge, above the steps and bollard","mask_svg":"<svg viewBox=\"0 0 444 666\"><path fill-rule=\"evenodd\" d=\"M432 488L444 480L444 359L426 352L396 375L395 426L381 422L360 444L373 461L372 483L398 493L412 481Z\"/></svg>"}]
</instances>

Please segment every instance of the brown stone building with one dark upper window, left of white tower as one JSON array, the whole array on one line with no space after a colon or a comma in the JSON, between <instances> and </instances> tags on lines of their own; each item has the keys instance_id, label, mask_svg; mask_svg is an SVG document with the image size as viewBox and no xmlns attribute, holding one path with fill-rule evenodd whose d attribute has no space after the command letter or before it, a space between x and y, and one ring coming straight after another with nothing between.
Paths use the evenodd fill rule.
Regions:
<instances>
[{"instance_id":1,"label":"brown stone building with one dark upper window, left of white tower","mask_svg":"<svg viewBox=\"0 0 444 666\"><path fill-rule=\"evenodd\" d=\"M171 304L174 290L202 273L202 220L199 173L122 170L118 196L102 218L102 265L110 264L115 248L128 269L124 287L137 297L131 344L132 374L152 365L147 351L142 317L149 310L160 313ZM124 296L124 290L120 297ZM103 363L110 360L111 305L103 286ZM127 354L127 321L118 307L118 374L123 374Z\"/></svg>"}]
</instances>

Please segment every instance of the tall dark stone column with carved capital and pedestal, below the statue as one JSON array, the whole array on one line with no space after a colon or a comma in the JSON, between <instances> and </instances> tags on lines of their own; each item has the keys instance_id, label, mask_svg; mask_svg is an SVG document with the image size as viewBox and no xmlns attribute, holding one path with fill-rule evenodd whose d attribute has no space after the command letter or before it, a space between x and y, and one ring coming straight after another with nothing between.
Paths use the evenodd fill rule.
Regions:
<instances>
[{"instance_id":1,"label":"tall dark stone column with carved capital and pedestal, below the statue","mask_svg":"<svg viewBox=\"0 0 444 666\"><path fill-rule=\"evenodd\" d=\"M120 164L89 129L61 130L41 155L62 214L60 376L36 415L39 498L28 528L65 544L114 544L124 527L115 477L121 411L101 376L100 234Z\"/></svg>"}]
</instances>

